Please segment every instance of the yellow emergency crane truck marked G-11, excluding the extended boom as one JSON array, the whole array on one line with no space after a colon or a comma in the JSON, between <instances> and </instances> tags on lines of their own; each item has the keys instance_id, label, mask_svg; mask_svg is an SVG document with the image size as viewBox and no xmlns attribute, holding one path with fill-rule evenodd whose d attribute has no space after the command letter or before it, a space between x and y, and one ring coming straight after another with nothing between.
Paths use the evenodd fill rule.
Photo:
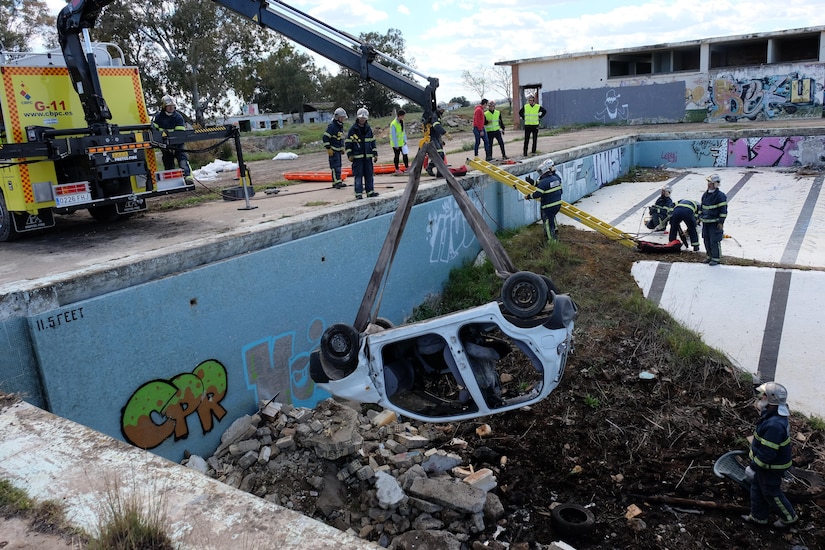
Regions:
<instances>
[{"instance_id":1,"label":"yellow emergency crane truck marked G-11, excluding the extended boom","mask_svg":"<svg viewBox=\"0 0 825 550\"><path fill-rule=\"evenodd\" d=\"M149 197L194 189L180 169L158 167L158 149L234 139L243 170L234 126L152 128L138 68L117 46L89 40L108 3L68 4L60 50L0 52L0 242L53 227L56 214L86 209L113 221L145 210Z\"/></svg>"}]
</instances>

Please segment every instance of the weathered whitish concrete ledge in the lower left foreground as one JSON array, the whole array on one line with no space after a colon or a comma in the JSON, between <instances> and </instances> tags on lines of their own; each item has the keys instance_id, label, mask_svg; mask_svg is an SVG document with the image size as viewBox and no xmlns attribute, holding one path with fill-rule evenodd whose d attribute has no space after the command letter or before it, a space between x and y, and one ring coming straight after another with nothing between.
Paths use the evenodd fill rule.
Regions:
<instances>
[{"instance_id":1,"label":"weathered whitish concrete ledge in the lower left foreground","mask_svg":"<svg viewBox=\"0 0 825 550\"><path fill-rule=\"evenodd\" d=\"M176 548L379 548L24 402L0 411L0 478L63 503L89 533L116 482L126 498L163 503Z\"/></svg>"}]
</instances>

